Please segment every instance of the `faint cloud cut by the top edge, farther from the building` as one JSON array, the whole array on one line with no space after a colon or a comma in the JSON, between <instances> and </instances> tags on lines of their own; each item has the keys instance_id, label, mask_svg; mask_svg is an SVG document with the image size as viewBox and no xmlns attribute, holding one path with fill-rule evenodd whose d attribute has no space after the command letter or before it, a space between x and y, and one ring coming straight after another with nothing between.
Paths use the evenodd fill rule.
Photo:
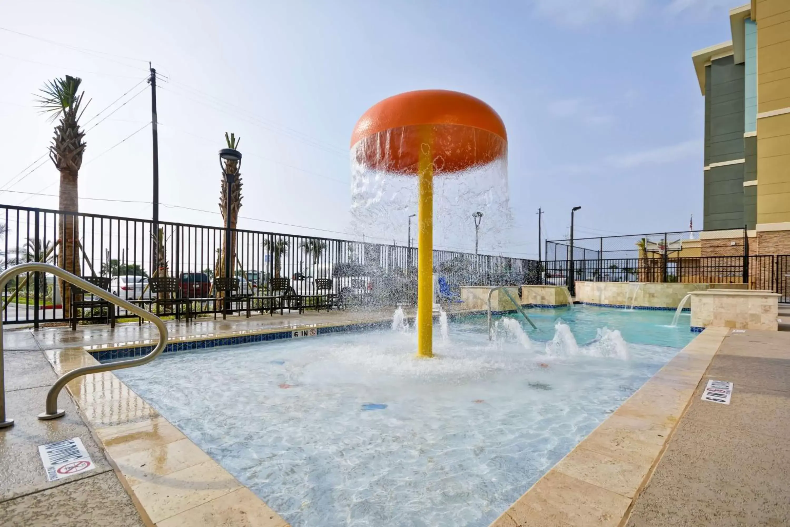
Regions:
<instances>
[{"instance_id":1,"label":"faint cloud cut by the top edge, farther from the building","mask_svg":"<svg viewBox=\"0 0 790 527\"><path fill-rule=\"evenodd\" d=\"M533 3L540 16L571 27L611 20L630 22L645 9L645 0L534 0Z\"/></svg>"}]
</instances>

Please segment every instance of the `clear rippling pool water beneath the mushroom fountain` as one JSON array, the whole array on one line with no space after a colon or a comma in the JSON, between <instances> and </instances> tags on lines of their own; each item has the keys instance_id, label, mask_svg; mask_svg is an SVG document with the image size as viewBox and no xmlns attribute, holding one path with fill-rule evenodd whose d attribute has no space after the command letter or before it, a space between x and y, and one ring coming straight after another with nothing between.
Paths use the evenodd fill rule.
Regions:
<instances>
[{"instance_id":1,"label":"clear rippling pool water beneath the mushroom fountain","mask_svg":"<svg viewBox=\"0 0 790 527\"><path fill-rule=\"evenodd\" d=\"M295 527L485 527L694 335L669 311L530 310L180 352L117 372Z\"/></svg>"}]
</instances>

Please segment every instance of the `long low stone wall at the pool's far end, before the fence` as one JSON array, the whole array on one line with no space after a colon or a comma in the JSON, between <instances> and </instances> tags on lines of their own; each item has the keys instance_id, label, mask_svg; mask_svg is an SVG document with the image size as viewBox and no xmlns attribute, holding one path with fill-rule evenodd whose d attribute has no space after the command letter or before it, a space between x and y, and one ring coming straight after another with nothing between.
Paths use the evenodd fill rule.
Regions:
<instances>
[{"instance_id":1,"label":"long low stone wall at the pool's far end, before the fence","mask_svg":"<svg viewBox=\"0 0 790 527\"><path fill-rule=\"evenodd\" d=\"M650 282L576 282L576 300L611 306L630 306L636 291L634 306L678 307L684 296L694 291L705 291L711 284L680 284Z\"/></svg>"}]
</instances>

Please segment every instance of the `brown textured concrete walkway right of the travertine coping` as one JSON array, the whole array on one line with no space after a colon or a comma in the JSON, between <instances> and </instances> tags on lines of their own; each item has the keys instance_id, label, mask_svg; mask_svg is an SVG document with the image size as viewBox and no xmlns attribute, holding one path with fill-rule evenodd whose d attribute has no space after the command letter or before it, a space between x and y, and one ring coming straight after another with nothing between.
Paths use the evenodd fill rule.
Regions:
<instances>
[{"instance_id":1,"label":"brown textured concrete walkway right of the travertine coping","mask_svg":"<svg viewBox=\"0 0 790 527\"><path fill-rule=\"evenodd\" d=\"M733 382L730 405L702 401L709 379ZM629 527L790 525L790 333L724 338Z\"/></svg>"}]
</instances>

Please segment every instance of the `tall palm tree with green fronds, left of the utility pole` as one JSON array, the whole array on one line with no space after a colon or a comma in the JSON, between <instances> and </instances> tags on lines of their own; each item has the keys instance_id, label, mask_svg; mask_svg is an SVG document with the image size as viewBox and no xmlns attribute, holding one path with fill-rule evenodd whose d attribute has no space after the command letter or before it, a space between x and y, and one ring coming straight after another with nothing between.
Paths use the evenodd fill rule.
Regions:
<instances>
[{"instance_id":1,"label":"tall palm tree with green fronds, left of the utility pole","mask_svg":"<svg viewBox=\"0 0 790 527\"><path fill-rule=\"evenodd\" d=\"M55 137L49 147L49 156L55 168L60 171L60 192L58 209L66 211L61 213L58 220L58 241L61 250L58 265L74 274L80 273L80 259L77 258L77 242L80 239L77 213L80 209L77 195L77 178L82 166L82 156L85 153L85 132L80 128L80 118L85 111L82 107L82 97L85 92L79 92L82 79L66 75L65 79L58 78L47 82L40 90L37 100L41 113L49 114L50 122L55 126ZM79 92L79 93L78 93ZM88 101L89 103L90 101ZM60 281L64 313L70 312L69 284Z\"/></svg>"}]
</instances>

